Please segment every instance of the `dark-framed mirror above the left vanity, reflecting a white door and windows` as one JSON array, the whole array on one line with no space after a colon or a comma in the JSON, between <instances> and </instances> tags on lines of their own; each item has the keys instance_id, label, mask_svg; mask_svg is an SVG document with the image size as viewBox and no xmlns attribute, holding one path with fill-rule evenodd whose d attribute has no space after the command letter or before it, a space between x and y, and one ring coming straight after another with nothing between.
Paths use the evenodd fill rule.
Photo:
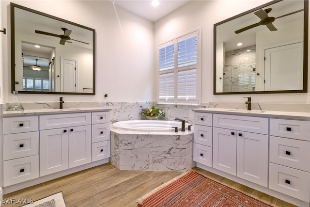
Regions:
<instances>
[{"instance_id":1,"label":"dark-framed mirror above the left vanity, reflecting a white door and windows","mask_svg":"<svg viewBox=\"0 0 310 207\"><path fill-rule=\"evenodd\" d=\"M12 91L95 95L95 30L11 3Z\"/></svg>"}]
</instances>

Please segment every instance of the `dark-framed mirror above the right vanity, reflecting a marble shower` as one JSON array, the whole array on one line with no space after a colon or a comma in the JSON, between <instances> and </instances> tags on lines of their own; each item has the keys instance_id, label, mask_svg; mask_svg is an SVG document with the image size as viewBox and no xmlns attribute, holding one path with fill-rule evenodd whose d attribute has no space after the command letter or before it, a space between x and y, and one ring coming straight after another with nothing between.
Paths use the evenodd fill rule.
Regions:
<instances>
[{"instance_id":1,"label":"dark-framed mirror above the right vanity, reflecting a marble shower","mask_svg":"<svg viewBox=\"0 0 310 207\"><path fill-rule=\"evenodd\" d=\"M214 25L214 95L306 93L308 0L275 0Z\"/></svg>"}]
</instances>

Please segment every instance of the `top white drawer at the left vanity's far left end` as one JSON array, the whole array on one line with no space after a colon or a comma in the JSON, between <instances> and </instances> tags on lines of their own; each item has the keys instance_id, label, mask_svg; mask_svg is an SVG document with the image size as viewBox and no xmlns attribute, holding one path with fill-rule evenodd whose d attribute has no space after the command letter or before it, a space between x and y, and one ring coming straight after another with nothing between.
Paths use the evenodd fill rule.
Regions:
<instances>
[{"instance_id":1,"label":"top white drawer at the left vanity's far left end","mask_svg":"<svg viewBox=\"0 0 310 207\"><path fill-rule=\"evenodd\" d=\"M38 116L3 118L3 134L37 131L38 128Z\"/></svg>"}]
</instances>

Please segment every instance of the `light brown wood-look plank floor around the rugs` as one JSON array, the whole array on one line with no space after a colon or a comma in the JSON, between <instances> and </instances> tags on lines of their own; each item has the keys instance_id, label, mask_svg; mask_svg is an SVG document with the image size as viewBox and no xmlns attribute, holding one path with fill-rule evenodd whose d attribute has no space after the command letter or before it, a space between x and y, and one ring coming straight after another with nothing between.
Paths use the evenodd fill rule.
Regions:
<instances>
[{"instance_id":1,"label":"light brown wood-look plank floor around the rugs","mask_svg":"<svg viewBox=\"0 0 310 207\"><path fill-rule=\"evenodd\" d=\"M200 168L194 171L273 207L294 207L277 198ZM3 199L34 201L62 191L67 207L137 207L136 200L182 172L118 170L109 163L3 195ZM18 207L2 204L3 207Z\"/></svg>"}]
</instances>

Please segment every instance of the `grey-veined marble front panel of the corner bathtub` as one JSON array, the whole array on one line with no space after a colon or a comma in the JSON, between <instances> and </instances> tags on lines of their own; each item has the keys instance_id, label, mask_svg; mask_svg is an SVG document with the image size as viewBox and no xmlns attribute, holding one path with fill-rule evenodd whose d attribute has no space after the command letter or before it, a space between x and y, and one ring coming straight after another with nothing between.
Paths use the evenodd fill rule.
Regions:
<instances>
[{"instance_id":1,"label":"grey-veined marble front panel of the corner bathtub","mask_svg":"<svg viewBox=\"0 0 310 207\"><path fill-rule=\"evenodd\" d=\"M111 127L109 162L120 170L187 171L193 162L193 133L142 132Z\"/></svg>"}]
</instances>

